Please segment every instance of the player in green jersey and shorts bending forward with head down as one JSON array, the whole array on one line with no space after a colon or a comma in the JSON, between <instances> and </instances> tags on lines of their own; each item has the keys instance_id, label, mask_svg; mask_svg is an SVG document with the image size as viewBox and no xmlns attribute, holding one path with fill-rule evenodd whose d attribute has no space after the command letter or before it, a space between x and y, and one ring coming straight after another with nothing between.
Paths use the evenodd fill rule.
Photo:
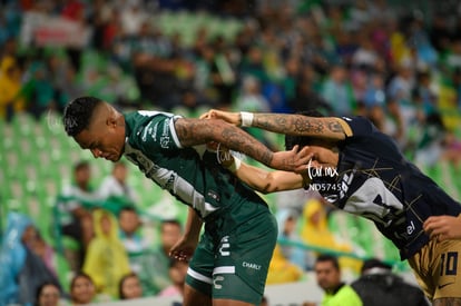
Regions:
<instances>
[{"instance_id":1,"label":"player in green jersey and shorts bending forward with head down","mask_svg":"<svg viewBox=\"0 0 461 306\"><path fill-rule=\"evenodd\" d=\"M301 170L305 151L273 152L223 120L187 119L161 111L122 115L81 97L65 110L66 132L95 158L122 155L146 177L189 206L185 235L171 256L192 260L184 305L259 305L276 243L275 218L252 189L220 167L216 154L193 146L220 142L282 170ZM202 224L205 233L198 243Z\"/></svg>"}]
</instances>

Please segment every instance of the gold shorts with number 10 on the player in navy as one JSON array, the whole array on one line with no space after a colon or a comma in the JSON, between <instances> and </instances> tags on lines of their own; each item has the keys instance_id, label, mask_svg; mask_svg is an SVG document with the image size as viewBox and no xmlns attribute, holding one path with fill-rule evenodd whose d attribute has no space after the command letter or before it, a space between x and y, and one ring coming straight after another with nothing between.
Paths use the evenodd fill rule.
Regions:
<instances>
[{"instance_id":1,"label":"gold shorts with number 10 on the player in navy","mask_svg":"<svg viewBox=\"0 0 461 306\"><path fill-rule=\"evenodd\" d=\"M432 239L409 264L429 299L461 298L461 240Z\"/></svg>"}]
</instances>

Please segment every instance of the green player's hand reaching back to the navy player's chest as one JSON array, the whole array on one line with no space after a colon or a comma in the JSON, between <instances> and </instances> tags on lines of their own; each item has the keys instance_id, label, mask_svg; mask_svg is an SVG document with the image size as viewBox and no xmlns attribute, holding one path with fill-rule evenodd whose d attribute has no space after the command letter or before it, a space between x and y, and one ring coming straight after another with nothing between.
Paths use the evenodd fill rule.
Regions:
<instances>
[{"instance_id":1,"label":"green player's hand reaching back to the navy player's chest","mask_svg":"<svg viewBox=\"0 0 461 306\"><path fill-rule=\"evenodd\" d=\"M284 171L302 172L305 171L306 164L313 157L307 147L300 150L300 146L294 146L290 151L274 152L271 167Z\"/></svg>"}]
</instances>

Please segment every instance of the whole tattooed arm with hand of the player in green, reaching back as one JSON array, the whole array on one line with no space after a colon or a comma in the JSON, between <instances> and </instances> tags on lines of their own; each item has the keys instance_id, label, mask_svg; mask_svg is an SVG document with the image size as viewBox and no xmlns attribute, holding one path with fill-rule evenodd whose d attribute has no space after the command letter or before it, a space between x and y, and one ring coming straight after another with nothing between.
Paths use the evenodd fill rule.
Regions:
<instances>
[{"instance_id":1,"label":"whole tattooed arm with hand of the player in green, reaching back","mask_svg":"<svg viewBox=\"0 0 461 306\"><path fill-rule=\"evenodd\" d=\"M273 152L244 130L223 120L199 120L180 118L175 121L176 134L184 147L220 142L227 148L241 151L259 162L281 170L293 171L307 162L305 150Z\"/></svg>"}]
</instances>

